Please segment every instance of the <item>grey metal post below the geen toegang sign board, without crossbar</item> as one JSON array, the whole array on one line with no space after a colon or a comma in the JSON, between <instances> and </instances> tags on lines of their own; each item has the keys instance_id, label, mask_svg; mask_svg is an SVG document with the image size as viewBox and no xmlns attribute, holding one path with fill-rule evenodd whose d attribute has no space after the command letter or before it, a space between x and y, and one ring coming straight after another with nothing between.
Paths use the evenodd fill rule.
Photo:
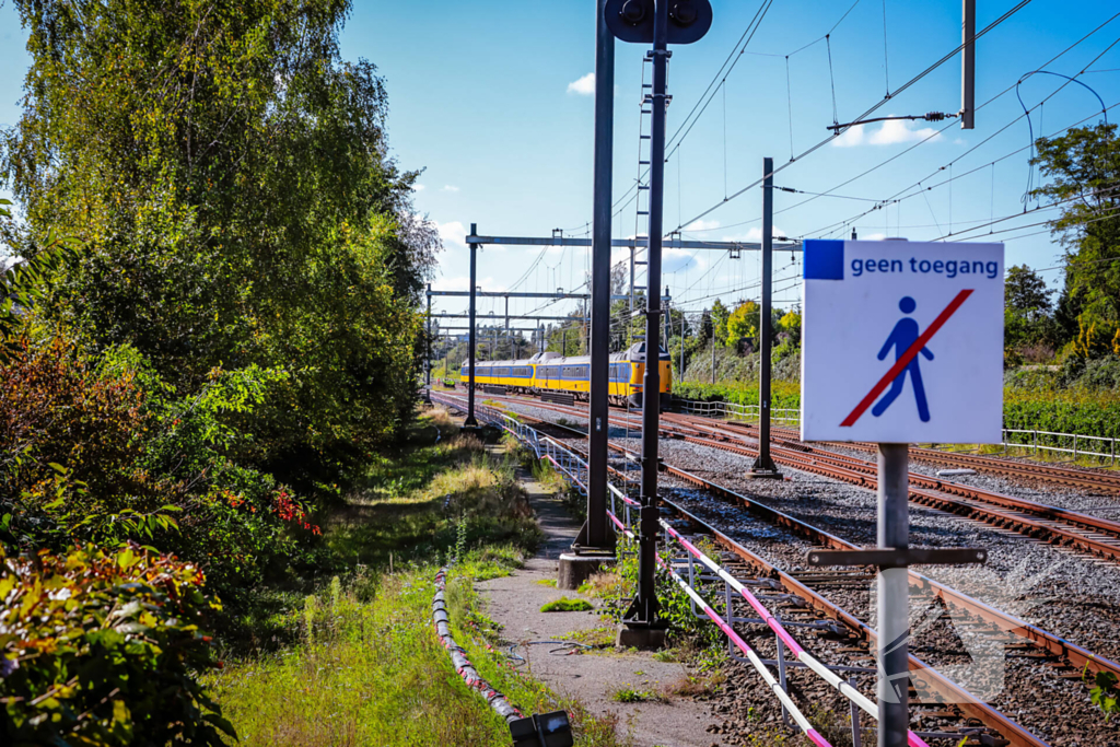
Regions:
<instances>
[{"instance_id":1,"label":"grey metal post below the geen toegang sign board, without crossbar","mask_svg":"<svg viewBox=\"0 0 1120 747\"><path fill-rule=\"evenodd\" d=\"M879 443L879 547L903 552L909 547L908 449L906 443ZM879 747L905 747L909 725L909 582L905 567L879 569L878 597Z\"/></svg>"}]
</instances>

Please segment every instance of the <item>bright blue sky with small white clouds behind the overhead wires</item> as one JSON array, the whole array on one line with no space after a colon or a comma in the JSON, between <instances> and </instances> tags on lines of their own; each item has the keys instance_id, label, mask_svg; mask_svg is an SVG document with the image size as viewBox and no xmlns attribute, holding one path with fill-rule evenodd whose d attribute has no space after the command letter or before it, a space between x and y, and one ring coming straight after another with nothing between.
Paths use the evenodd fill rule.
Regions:
<instances>
[{"instance_id":1,"label":"bright blue sky with small white clouds behind the overhead wires","mask_svg":"<svg viewBox=\"0 0 1120 747\"><path fill-rule=\"evenodd\" d=\"M735 50L738 62L703 115L666 166L666 230L682 223L690 237L755 240L759 235L759 189L720 204L762 174L762 159L776 165L822 140L837 118L844 122L878 103L960 43L960 0L775 0L747 53L737 40L759 1L713 0L715 24L698 44L674 48L669 86L673 103L669 132L678 130L720 65ZM1010 9L1012 0L981 2L978 28ZM467 250L461 236L470 223L480 233L548 235L560 227L586 231L591 212L591 128L594 90L592 0L576 2L485 2L445 0L357 2L342 36L343 54L375 63L390 95L390 142L402 168L423 168L417 207L439 224L445 239L438 288L467 287ZM832 30L828 43L819 40ZM853 224L860 237L902 235L931 240L962 227L1021 214L1029 142L1014 85L1026 73L1076 43L1120 10L1114 2L1033 0L978 41L977 103L1008 87L977 114L977 127L962 131L952 122L871 124L794 161L775 184L822 193L894 160L836 189L839 197L775 194L775 228L788 236L839 236ZM884 34L884 16L886 34ZM884 40L886 37L886 41ZM19 116L18 97L27 56L25 35L10 3L0 7L0 123ZM1076 45L1046 69L1080 73L1120 38L1120 18ZM792 54L816 40L808 48ZM886 45L886 49L884 46ZM831 52L831 74L829 66ZM638 96L644 49L617 46L615 88L615 195L637 177ZM788 84L786 78L788 58ZM1120 45L1108 50L1079 80L1092 86L1107 106L1120 102ZM878 112L922 114L960 108L960 62L953 58L893 97ZM1036 75L1020 87L1028 108L1049 96L1062 78ZM1094 123L1100 104L1085 88L1067 85L1032 112L1036 134L1052 133L1080 120ZM1120 119L1120 106L1109 112ZM791 128L792 121L792 128ZM943 133L914 147L949 124ZM1006 128L1006 129L1005 129ZM907 149L911 149L908 152ZM990 164L998 160L995 166ZM974 169L974 171L973 171ZM972 171L967 176L962 176ZM725 177L726 175L726 177ZM952 177L952 181L935 186ZM932 189L912 188L922 180ZM726 192L725 192L726 184ZM951 185L951 186L950 186ZM909 195L872 209L877 202ZM859 199L855 199L859 198ZM871 202L867 202L871 200ZM1029 205L1034 207L1035 204ZM616 218L614 235L635 233L634 206ZM951 237L1007 241L1008 263L1035 268L1058 264L1060 249L1037 224L1055 211L1019 215L990 230ZM847 223L846 223L847 222ZM822 231L830 228L830 231ZM538 261L539 260L539 261ZM584 282L582 250L487 249L479 258L479 284L486 290L550 291ZM689 310L709 306L716 296L731 302L757 293L757 259L731 260L713 251L671 252L665 282ZM777 299L796 301L800 274L795 258L775 261ZM528 271L528 272L526 272ZM523 277L524 276L524 277ZM1047 270L1055 286L1058 271ZM522 279L523 278L523 279ZM522 279L520 284L516 284ZM640 281L641 284L641 281ZM459 310L451 299L438 305ZM540 302L511 302L528 312ZM504 306L485 301L483 312ZM547 314L570 309L553 304Z\"/></svg>"}]
</instances>

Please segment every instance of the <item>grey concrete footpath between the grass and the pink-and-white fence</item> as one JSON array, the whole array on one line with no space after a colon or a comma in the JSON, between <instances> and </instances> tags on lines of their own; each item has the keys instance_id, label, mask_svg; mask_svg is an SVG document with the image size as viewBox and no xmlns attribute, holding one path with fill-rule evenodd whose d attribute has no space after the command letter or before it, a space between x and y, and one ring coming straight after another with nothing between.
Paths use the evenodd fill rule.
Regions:
<instances>
[{"instance_id":1,"label":"grey concrete footpath between the grass and the pink-and-white fence","mask_svg":"<svg viewBox=\"0 0 1120 747\"><path fill-rule=\"evenodd\" d=\"M529 494L545 541L534 558L512 576L476 585L488 603L491 618L504 628L507 646L526 661L521 666L561 695L578 699L589 712L618 716L619 736L629 735L636 747L717 747L716 735L707 731L721 722L708 712L706 703L690 698L668 695L665 701L618 702L612 695L619 690L662 694L666 687L688 675L678 663L659 662L651 653L618 652L613 647L594 652L560 655L550 653L558 645L536 643L570 638L614 641L614 627L598 611L541 613L541 607L554 599L584 598L598 607L600 599L575 591L560 591L542 581L556 581L557 561L567 551L579 531L580 522L572 519L559 501L541 489L529 474L520 482Z\"/></svg>"}]
</instances>

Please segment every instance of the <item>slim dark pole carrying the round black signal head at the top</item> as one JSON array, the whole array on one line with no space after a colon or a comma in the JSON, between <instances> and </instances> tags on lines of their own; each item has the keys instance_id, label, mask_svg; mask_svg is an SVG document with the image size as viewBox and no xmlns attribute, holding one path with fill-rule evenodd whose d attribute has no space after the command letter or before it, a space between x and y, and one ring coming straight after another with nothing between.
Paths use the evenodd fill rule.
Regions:
<instances>
[{"instance_id":1,"label":"slim dark pole carrying the round black signal head at the top","mask_svg":"<svg viewBox=\"0 0 1120 747\"><path fill-rule=\"evenodd\" d=\"M653 11L653 92L650 96L650 253L645 282L645 379L642 387L642 512L638 521L637 596L624 622L632 627L659 627L655 572L657 562L657 433L661 405L661 235L665 188L665 72L669 62L669 0L655 0Z\"/></svg>"}]
</instances>

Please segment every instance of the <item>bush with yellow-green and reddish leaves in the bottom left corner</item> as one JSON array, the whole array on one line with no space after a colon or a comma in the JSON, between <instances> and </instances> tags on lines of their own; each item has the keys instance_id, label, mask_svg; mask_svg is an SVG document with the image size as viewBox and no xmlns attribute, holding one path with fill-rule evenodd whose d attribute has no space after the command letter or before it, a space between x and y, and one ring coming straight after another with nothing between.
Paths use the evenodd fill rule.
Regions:
<instances>
[{"instance_id":1,"label":"bush with yellow-green and reddish leaves in the bottom left corner","mask_svg":"<svg viewBox=\"0 0 1120 747\"><path fill-rule=\"evenodd\" d=\"M194 671L221 607L197 566L137 547L8 558L0 550L0 735L7 745L222 745Z\"/></svg>"}]
</instances>

